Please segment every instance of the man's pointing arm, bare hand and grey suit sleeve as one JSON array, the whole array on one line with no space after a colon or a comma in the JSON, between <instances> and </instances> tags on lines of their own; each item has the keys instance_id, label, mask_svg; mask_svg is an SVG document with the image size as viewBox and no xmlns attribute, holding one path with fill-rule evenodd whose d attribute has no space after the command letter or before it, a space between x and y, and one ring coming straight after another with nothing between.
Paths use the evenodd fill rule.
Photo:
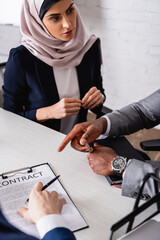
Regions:
<instances>
[{"instance_id":1,"label":"man's pointing arm, bare hand and grey suit sleeve","mask_svg":"<svg viewBox=\"0 0 160 240\"><path fill-rule=\"evenodd\" d=\"M136 132L143 128L151 128L160 123L160 89L147 98L130 104L120 110L106 114L110 120L111 127L109 136L120 136ZM91 123L77 124L65 137L58 148L62 151L71 141L73 148L79 151L92 151L92 148L85 146L96 140L107 129L107 120L102 117Z\"/></svg>"}]
</instances>

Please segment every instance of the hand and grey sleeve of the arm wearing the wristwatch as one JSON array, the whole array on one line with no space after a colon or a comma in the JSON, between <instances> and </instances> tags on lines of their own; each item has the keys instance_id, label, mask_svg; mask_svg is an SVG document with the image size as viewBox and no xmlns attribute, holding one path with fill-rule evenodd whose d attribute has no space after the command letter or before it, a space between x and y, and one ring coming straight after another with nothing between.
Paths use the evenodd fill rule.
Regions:
<instances>
[{"instance_id":1,"label":"hand and grey sleeve of the arm wearing the wristwatch","mask_svg":"<svg viewBox=\"0 0 160 240\"><path fill-rule=\"evenodd\" d=\"M104 176L113 174L111 162L117 156L118 154L113 149L97 143L94 145L94 151L87 155L92 170ZM147 173L155 173L157 177L160 177L160 162L130 159L123 172L122 195L136 197ZM152 197L154 194L154 183L152 179L149 179L144 187L143 198Z\"/></svg>"}]
</instances>

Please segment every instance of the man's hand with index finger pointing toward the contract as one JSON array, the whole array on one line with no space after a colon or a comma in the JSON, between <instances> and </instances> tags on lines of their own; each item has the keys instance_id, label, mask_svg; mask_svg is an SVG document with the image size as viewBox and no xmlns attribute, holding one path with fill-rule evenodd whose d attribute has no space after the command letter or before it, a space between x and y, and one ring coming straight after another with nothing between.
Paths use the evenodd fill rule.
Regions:
<instances>
[{"instance_id":1,"label":"man's hand with index finger pointing toward the contract","mask_svg":"<svg viewBox=\"0 0 160 240\"><path fill-rule=\"evenodd\" d=\"M96 140L101 134L105 133L106 129L107 121L103 117L93 122L76 124L59 146L58 152L61 152L70 141L74 149L81 152L92 152L93 148L85 145Z\"/></svg>"}]
</instances>

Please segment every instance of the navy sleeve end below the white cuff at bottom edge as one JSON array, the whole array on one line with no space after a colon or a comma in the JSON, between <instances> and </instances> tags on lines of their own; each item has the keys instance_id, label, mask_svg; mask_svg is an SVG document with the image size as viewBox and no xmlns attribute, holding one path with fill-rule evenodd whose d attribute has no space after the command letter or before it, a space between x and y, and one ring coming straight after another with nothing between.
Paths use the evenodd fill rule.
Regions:
<instances>
[{"instance_id":1,"label":"navy sleeve end below the white cuff at bottom edge","mask_svg":"<svg viewBox=\"0 0 160 240\"><path fill-rule=\"evenodd\" d=\"M69 229L60 227L46 233L42 240L76 240L76 238Z\"/></svg>"}]
</instances>

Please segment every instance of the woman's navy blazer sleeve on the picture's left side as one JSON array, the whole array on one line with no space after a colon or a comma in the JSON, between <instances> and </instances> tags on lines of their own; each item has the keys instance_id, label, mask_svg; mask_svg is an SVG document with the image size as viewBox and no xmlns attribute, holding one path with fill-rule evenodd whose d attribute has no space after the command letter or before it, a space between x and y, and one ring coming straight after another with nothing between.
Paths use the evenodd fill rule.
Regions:
<instances>
[{"instance_id":1,"label":"woman's navy blazer sleeve on the picture's left side","mask_svg":"<svg viewBox=\"0 0 160 240\"><path fill-rule=\"evenodd\" d=\"M36 109L27 110L28 86L25 78L24 58L16 49L10 51L4 73L4 109L31 120L36 120Z\"/></svg>"}]
</instances>

